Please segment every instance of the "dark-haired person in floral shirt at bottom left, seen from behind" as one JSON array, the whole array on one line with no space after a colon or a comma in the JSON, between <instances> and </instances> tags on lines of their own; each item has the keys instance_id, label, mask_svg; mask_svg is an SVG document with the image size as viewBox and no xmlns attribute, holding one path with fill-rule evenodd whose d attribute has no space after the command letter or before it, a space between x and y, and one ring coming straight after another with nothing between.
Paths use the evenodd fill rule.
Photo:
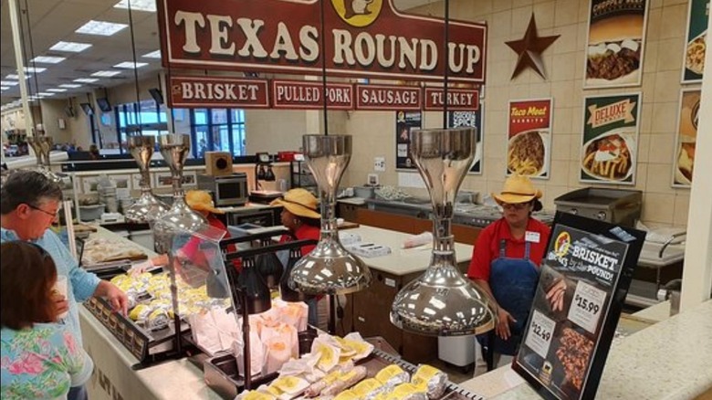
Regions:
<instances>
[{"instance_id":1,"label":"dark-haired person in floral shirt at bottom left, seen from behind","mask_svg":"<svg viewBox=\"0 0 712 400\"><path fill-rule=\"evenodd\" d=\"M66 398L70 387L89 380L94 365L58 321L54 260L42 247L22 241L3 243L0 255L0 397Z\"/></svg>"}]
</instances>

